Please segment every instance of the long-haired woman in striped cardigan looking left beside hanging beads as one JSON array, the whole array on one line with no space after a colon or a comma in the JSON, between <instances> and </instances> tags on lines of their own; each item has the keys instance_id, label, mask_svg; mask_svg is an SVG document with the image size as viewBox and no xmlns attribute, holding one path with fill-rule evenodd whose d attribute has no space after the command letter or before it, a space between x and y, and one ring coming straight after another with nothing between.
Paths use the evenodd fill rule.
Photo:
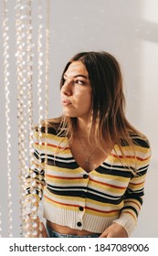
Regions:
<instances>
[{"instance_id":1,"label":"long-haired woman in striped cardigan looking left beside hanging beads","mask_svg":"<svg viewBox=\"0 0 158 256\"><path fill-rule=\"evenodd\" d=\"M107 52L81 52L60 89L63 116L45 122L41 135L36 129L34 184L27 179L27 200L32 188L33 205L44 199L43 237L129 237L151 151L125 117L119 63Z\"/></svg>"}]
</instances>

